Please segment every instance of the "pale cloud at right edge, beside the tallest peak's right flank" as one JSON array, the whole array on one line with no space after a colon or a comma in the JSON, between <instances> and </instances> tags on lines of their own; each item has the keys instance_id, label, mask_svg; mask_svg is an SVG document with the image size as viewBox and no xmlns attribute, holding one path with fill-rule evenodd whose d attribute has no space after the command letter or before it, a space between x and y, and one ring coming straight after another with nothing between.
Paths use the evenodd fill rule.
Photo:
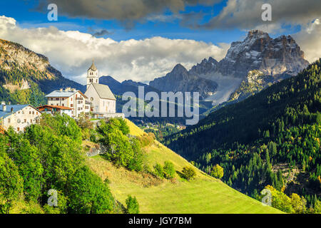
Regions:
<instances>
[{"instance_id":1,"label":"pale cloud at right edge, beside the tallest peak's right flank","mask_svg":"<svg viewBox=\"0 0 321 228\"><path fill-rule=\"evenodd\" d=\"M321 58L321 20L316 19L299 33L293 35L295 41L305 52L305 58L310 63Z\"/></svg>"}]
</instances>

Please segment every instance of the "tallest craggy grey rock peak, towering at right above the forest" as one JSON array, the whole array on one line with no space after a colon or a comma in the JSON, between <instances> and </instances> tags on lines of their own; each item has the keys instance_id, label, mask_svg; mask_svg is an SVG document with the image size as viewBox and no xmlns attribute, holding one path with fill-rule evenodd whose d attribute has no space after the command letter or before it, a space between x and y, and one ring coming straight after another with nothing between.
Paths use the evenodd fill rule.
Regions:
<instances>
[{"instance_id":1,"label":"tallest craggy grey rock peak, towering at right above the forest","mask_svg":"<svg viewBox=\"0 0 321 228\"><path fill-rule=\"evenodd\" d=\"M263 31L254 30L244 41L231 44L225 58L218 63L218 72L240 78L252 70L272 76L282 73L295 76L308 65L291 36L273 39Z\"/></svg>"}]
</instances>

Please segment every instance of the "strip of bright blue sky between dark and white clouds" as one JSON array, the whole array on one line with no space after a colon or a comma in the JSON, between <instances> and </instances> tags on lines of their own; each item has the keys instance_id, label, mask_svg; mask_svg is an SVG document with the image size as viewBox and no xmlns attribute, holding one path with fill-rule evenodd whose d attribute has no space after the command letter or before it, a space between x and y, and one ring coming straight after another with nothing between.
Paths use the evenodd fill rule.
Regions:
<instances>
[{"instance_id":1,"label":"strip of bright blue sky between dark and white clouds","mask_svg":"<svg viewBox=\"0 0 321 228\"><path fill-rule=\"evenodd\" d=\"M212 43L230 43L232 41L243 38L246 31L240 29L230 30L202 30L191 29L182 26L178 19L173 21L143 21L136 23L133 28L124 28L121 22L117 20L103 19L86 19L86 18L71 18L59 14L58 6L58 21L51 22L47 19L48 11L35 11L38 1L10 0L0 1L0 15L5 15L16 19L19 25L23 28L49 27L56 26L57 28L67 30L77 30L84 33L93 33L93 30L106 29L110 33L103 37L113 38L115 41L123 41L131 38L142 39L151 38L153 36L162 36L165 38L187 38L196 41L205 41ZM190 12L203 12L204 19L200 22L208 21L213 16L217 15L226 5L226 1L222 1L215 6L188 6L182 14ZM172 13L164 11L164 16L173 16Z\"/></svg>"}]
</instances>

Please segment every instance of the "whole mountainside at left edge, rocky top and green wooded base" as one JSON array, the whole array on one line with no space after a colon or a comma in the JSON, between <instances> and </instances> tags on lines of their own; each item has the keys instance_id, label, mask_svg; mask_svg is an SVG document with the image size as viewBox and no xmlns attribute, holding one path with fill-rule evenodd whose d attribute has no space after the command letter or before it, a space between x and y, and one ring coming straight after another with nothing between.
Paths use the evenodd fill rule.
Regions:
<instances>
[{"instance_id":1,"label":"whole mountainside at left edge, rocky top and green wooded base","mask_svg":"<svg viewBox=\"0 0 321 228\"><path fill-rule=\"evenodd\" d=\"M49 59L19 43L0 39L0 99L11 103L46 103L44 95L60 88L85 86L64 78Z\"/></svg>"}]
</instances>

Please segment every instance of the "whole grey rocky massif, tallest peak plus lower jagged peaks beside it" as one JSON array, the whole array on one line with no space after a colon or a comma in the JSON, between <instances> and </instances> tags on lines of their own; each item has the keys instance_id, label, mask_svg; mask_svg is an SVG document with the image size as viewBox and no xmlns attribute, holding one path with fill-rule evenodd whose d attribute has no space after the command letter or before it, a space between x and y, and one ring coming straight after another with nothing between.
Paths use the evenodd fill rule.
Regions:
<instances>
[{"instance_id":1,"label":"whole grey rocky massif, tallest peak plus lower jagged peaks beside it","mask_svg":"<svg viewBox=\"0 0 321 228\"><path fill-rule=\"evenodd\" d=\"M303 51L291 36L270 38L263 31L253 30L244 41L233 42L220 62L210 57L190 71L178 64L172 72L156 78L150 85L162 91L198 91L201 98L218 105L229 100L243 81L247 82L250 71L257 70L269 76L263 85L255 86L265 88L267 83L297 75L308 65Z\"/></svg>"}]
</instances>

